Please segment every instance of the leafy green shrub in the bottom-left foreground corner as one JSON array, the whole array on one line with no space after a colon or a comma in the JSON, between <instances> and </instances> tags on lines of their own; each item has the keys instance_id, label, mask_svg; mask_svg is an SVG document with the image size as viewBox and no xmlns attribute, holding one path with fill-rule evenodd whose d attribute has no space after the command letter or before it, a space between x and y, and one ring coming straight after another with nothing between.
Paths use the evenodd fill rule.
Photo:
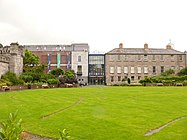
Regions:
<instances>
[{"instance_id":1,"label":"leafy green shrub in the bottom-left foreground corner","mask_svg":"<svg viewBox=\"0 0 187 140\"><path fill-rule=\"evenodd\" d=\"M21 119L17 119L17 112L10 113L8 120L0 123L0 140L18 140L22 131Z\"/></svg>"}]
</instances>

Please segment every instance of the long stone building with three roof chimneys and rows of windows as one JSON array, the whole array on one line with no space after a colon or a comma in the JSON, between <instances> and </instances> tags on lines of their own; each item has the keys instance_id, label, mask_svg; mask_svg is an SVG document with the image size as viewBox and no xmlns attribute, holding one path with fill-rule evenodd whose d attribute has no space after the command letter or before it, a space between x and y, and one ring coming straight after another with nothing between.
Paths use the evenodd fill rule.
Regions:
<instances>
[{"instance_id":1,"label":"long stone building with three roof chimneys and rows of windows","mask_svg":"<svg viewBox=\"0 0 187 140\"><path fill-rule=\"evenodd\" d=\"M165 49L149 48L124 48L119 44L105 55L106 84L120 83L122 80L131 79L137 82L145 77L157 76L168 69L176 72L187 66L186 53L174 50L171 44Z\"/></svg>"}]
</instances>

